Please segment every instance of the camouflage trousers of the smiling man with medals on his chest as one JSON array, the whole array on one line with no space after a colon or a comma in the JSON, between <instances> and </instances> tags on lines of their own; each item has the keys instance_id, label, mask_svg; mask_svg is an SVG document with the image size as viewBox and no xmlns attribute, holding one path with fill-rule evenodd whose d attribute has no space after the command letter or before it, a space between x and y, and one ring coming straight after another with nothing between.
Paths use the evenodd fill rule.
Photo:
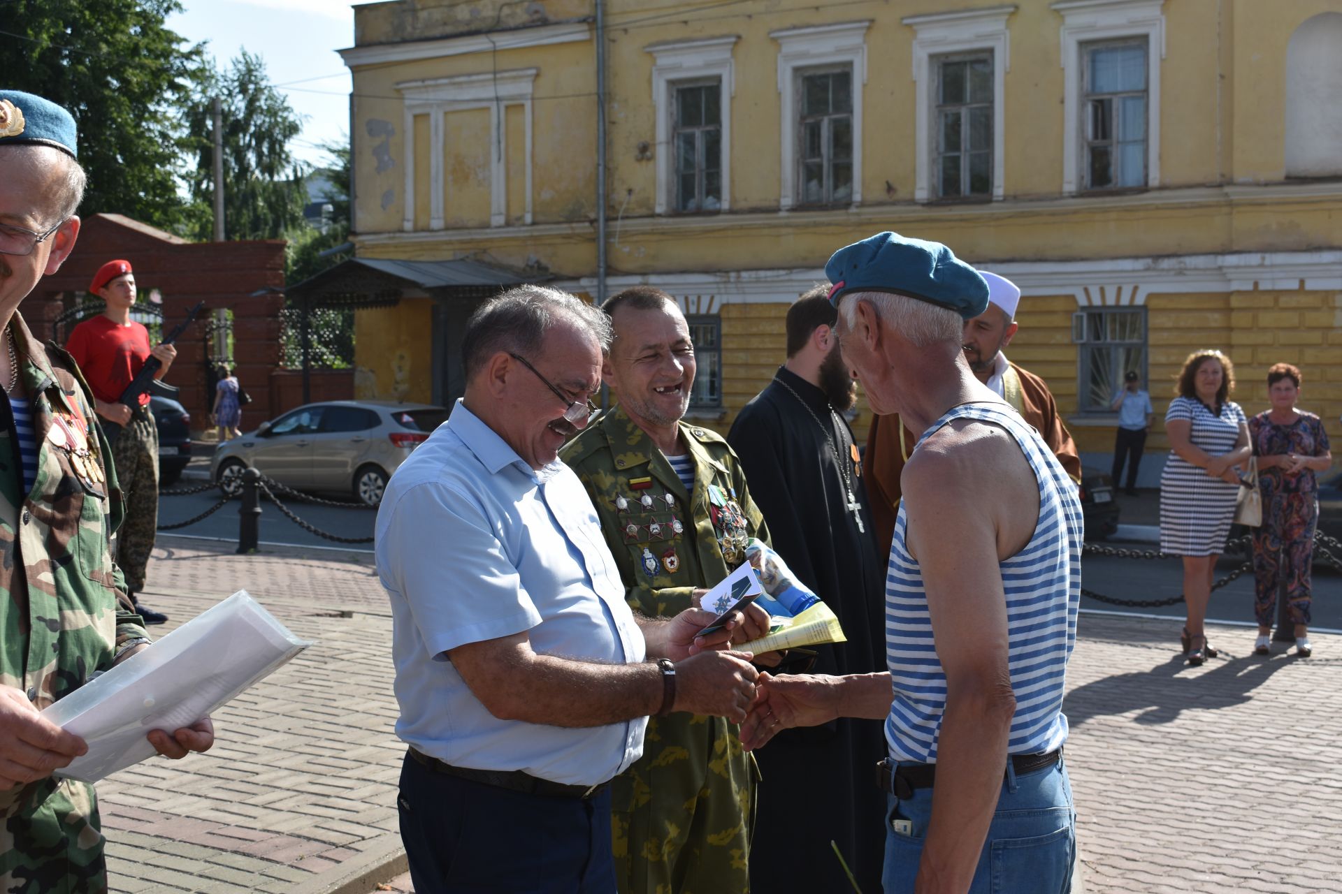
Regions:
<instances>
[{"instance_id":1,"label":"camouflage trousers of the smiling man with medals on his chest","mask_svg":"<svg viewBox=\"0 0 1342 894\"><path fill-rule=\"evenodd\" d=\"M611 785L620 894L746 894L760 771L738 726L652 717L643 749Z\"/></svg>"}]
</instances>

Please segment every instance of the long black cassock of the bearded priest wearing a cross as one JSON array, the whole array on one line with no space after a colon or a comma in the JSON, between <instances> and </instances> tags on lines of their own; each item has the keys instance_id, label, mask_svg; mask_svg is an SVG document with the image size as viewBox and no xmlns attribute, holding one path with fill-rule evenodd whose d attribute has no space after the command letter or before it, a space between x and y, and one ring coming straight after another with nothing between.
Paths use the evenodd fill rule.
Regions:
<instances>
[{"instance_id":1,"label":"long black cassock of the bearded priest wearing a cross","mask_svg":"<svg viewBox=\"0 0 1342 894\"><path fill-rule=\"evenodd\" d=\"M876 554L847 421L831 413L824 391L780 369L737 416L727 441L769 525L770 546L833 610L848 637L812 646L819 653L815 673L886 670L886 560ZM862 505L858 515L844 472ZM883 722L851 718L785 730L756 752L764 779L750 890L852 890L832 839L864 894L879 893L886 796L876 788L875 767L884 756Z\"/></svg>"}]
</instances>

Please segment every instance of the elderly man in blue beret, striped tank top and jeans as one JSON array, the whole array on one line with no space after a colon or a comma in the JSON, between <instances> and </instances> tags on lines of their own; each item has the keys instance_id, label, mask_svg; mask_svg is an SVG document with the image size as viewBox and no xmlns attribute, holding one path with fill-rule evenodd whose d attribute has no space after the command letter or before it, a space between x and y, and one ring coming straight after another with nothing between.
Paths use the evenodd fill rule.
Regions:
<instances>
[{"instance_id":1,"label":"elderly man in blue beret, striped tank top and jeans","mask_svg":"<svg viewBox=\"0 0 1342 894\"><path fill-rule=\"evenodd\" d=\"M886 673L761 677L749 748L835 717L886 721L884 890L1068 891L1063 764L1082 509L1057 458L961 351L988 285L949 248L879 233L825 272L844 359L918 434L886 578Z\"/></svg>"}]
</instances>

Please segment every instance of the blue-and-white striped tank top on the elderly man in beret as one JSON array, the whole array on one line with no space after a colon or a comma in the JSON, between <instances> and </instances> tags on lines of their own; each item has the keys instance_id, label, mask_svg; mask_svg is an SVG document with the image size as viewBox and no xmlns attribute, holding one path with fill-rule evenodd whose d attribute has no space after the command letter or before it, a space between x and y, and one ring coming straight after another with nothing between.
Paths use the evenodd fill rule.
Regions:
<instances>
[{"instance_id":1,"label":"blue-and-white striped tank top on the elderly man in beret","mask_svg":"<svg viewBox=\"0 0 1342 894\"><path fill-rule=\"evenodd\" d=\"M980 420L1005 429L1039 483L1039 523L1025 548L1000 563L1007 594L1007 637L1012 692L1012 755L1047 753L1067 740L1063 682L1076 643L1082 587L1082 505L1076 485L1039 433L1005 403L951 407L918 440L953 420ZM917 446L914 448L918 449ZM933 645L927 595L918 562L905 546L907 516L900 504L886 576L886 659L894 701L886 743L894 760L931 764L946 708L946 674Z\"/></svg>"}]
</instances>

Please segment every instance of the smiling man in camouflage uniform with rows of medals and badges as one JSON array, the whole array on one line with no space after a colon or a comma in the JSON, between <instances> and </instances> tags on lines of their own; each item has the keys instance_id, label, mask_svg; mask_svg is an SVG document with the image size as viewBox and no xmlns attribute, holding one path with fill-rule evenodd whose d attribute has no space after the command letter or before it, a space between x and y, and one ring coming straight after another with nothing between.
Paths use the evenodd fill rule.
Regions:
<instances>
[{"instance_id":1,"label":"smiling man in camouflage uniform with rows of medals and badges","mask_svg":"<svg viewBox=\"0 0 1342 894\"><path fill-rule=\"evenodd\" d=\"M750 537L766 540L768 532L726 440L680 422L695 363L675 300L636 287L603 310L615 340L601 373L619 406L560 458L592 496L629 604L671 617L745 562ZM739 639L754 633L762 630ZM757 780L734 724L651 718L643 759L612 784L621 894L747 891Z\"/></svg>"}]
</instances>

